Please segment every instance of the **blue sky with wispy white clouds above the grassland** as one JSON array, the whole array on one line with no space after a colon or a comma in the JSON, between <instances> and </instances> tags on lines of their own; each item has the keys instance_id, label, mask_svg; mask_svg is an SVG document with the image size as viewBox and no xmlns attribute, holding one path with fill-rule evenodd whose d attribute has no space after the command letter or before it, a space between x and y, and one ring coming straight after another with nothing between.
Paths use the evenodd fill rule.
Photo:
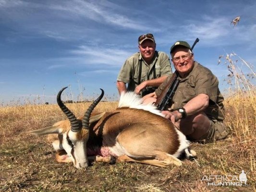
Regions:
<instances>
[{"instance_id":1,"label":"blue sky with wispy white clouds above the grassland","mask_svg":"<svg viewBox=\"0 0 256 192\"><path fill-rule=\"evenodd\" d=\"M198 37L195 60L223 90L228 71L219 55L256 61L255 10L255 0L0 0L0 102L55 103L64 86L73 100L99 88L118 99L118 72L146 33L168 54L175 41Z\"/></svg>"}]
</instances>

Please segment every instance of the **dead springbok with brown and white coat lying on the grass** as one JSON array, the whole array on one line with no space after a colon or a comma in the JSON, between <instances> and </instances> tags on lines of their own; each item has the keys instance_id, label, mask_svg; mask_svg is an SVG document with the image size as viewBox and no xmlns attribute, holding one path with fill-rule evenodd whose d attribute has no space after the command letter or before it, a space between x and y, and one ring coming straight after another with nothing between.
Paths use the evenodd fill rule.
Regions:
<instances>
[{"instance_id":1,"label":"dead springbok with brown and white coat lying on the grass","mask_svg":"<svg viewBox=\"0 0 256 192\"><path fill-rule=\"evenodd\" d=\"M185 135L154 105L143 105L140 96L132 92L122 93L117 109L92 114L104 95L101 89L101 95L84 117L76 118L61 101L65 88L58 93L57 103L68 120L31 131L37 135L49 134L48 140L57 151L59 163L73 162L76 168L86 168L89 157L89 160L102 162L115 159L165 167L180 166L179 157L185 155L190 159L196 155L195 151L189 150L190 142Z\"/></svg>"}]
</instances>

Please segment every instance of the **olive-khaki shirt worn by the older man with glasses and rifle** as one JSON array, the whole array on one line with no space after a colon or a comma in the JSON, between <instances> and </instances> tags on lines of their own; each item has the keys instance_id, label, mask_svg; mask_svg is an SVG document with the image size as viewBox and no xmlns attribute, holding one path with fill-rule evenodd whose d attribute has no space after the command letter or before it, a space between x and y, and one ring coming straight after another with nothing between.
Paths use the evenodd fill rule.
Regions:
<instances>
[{"instance_id":1,"label":"olive-khaki shirt worn by the older man with glasses and rifle","mask_svg":"<svg viewBox=\"0 0 256 192\"><path fill-rule=\"evenodd\" d=\"M156 90L157 96L160 95L170 78L168 77L164 83L160 84ZM173 96L173 105L171 108L181 108L195 96L207 94L210 97L209 106L204 111L207 117L211 120L224 120L224 106L222 103L224 98L219 92L219 81L217 77L209 69L195 61L190 74L185 78L179 76L178 79L180 80L180 84Z\"/></svg>"}]
</instances>

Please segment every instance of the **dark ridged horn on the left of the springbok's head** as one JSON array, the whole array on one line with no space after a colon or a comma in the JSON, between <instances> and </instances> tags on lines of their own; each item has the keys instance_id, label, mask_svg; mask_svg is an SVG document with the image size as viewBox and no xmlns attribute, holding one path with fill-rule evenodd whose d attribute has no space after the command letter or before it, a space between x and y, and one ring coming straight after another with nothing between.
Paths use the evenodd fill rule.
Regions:
<instances>
[{"instance_id":1,"label":"dark ridged horn on the left of the springbok's head","mask_svg":"<svg viewBox=\"0 0 256 192\"><path fill-rule=\"evenodd\" d=\"M69 121L71 123L71 131L78 132L78 131L80 131L82 129L81 123L79 123L79 121L76 119L74 114L61 101L61 93L66 88L67 87L62 88L61 91L58 93L58 95L57 95L57 103L58 103L59 107L61 108L61 110L65 113L65 115L69 119Z\"/></svg>"}]
</instances>

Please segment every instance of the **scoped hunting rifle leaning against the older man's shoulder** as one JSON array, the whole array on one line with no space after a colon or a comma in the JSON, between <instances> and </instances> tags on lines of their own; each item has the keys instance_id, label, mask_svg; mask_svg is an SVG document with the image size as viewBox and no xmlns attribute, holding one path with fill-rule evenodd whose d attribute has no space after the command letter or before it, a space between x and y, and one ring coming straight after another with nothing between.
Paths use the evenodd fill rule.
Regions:
<instances>
[{"instance_id":1,"label":"scoped hunting rifle leaning against the older man's shoulder","mask_svg":"<svg viewBox=\"0 0 256 192\"><path fill-rule=\"evenodd\" d=\"M195 44L199 41L198 38L195 39L194 44L191 47L191 50L195 47ZM162 111L166 108L169 102L172 100L172 97L180 83L180 80L177 79L179 76L179 72L177 70L172 74L171 79L168 81L168 84L165 86L164 90L161 92L160 96L158 96L155 105L157 108Z\"/></svg>"}]
</instances>

